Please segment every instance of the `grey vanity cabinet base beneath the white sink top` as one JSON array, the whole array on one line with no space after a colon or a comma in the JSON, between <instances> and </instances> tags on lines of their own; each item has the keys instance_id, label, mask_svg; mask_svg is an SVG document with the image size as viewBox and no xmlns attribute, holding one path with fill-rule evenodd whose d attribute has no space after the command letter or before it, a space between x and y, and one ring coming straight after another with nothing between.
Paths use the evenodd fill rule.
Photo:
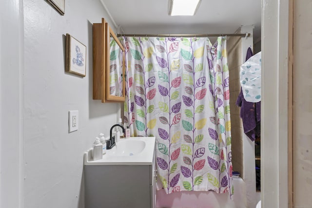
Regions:
<instances>
[{"instance_id":1,"label":"grey vanity cabinet base beneath the white sink top","mask_svg":"<svg viewBox=\"0 0 312 208\"><path fill-rule=\"evenodd\" d=\"M86 164L85 162L86 208L155 208L156 166L154 149L151 156L145 157L143 163L118 164L118 162L112 162L110 164L107 162L100 165L102 161L99 160L99 163L94 164L92 162Z\"/></svg>"}]
</instances>

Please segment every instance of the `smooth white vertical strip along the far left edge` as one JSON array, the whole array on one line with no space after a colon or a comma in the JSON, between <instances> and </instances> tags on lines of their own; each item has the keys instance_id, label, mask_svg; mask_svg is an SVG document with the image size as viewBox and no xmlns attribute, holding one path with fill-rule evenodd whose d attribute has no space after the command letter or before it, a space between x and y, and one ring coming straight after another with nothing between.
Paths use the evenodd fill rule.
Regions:
<instances>
[{"instance_id":1,"label":"smooth white vertical strip along the far left edge","mask_svg":"<svg viewBox=\"0 0 312 208\"><path fill-rule=\"evenodd\" d=\"M0 207L22 206L22 7L21 0L0 6Z\"/></svg>"}]
</instances>

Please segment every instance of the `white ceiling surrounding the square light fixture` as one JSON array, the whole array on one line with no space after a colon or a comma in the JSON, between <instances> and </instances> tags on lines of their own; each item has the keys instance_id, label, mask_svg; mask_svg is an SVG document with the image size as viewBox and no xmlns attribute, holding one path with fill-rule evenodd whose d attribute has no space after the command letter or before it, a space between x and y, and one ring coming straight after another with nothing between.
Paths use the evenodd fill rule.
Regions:
<instances>
[{"instance_id":1,"label":"white ceiling surrounding the square light fixture","mask_svg":"<svg viewBox=\"0 0 312 208\"><path fill-rule=\"evenodd\" d=\"M234 33L254 25L260 37L261 0L202 0L195 16L168 16L168 0L101 0L124 33ZM120 31L118 31L120 32Z\"/></svg>"}]
</instances>

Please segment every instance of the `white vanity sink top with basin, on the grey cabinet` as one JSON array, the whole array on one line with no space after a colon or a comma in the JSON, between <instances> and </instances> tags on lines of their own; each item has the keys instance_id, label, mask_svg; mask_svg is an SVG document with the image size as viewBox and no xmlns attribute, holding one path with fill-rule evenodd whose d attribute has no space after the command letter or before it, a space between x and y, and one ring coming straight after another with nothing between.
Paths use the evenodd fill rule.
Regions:
<instances>
[{"instance_id":1,"label":"white vanity sink top with basin, on the grey cabinet","mask_svg":"<svg viewBox=\"0 0 312 208\"><path fill-rule=\"evenodd\" d=\"M84 165L150 165L153 162L155 137L120 139L101 160L93 161L91 150L84 153Z\"/></svg>"}]
</instances>

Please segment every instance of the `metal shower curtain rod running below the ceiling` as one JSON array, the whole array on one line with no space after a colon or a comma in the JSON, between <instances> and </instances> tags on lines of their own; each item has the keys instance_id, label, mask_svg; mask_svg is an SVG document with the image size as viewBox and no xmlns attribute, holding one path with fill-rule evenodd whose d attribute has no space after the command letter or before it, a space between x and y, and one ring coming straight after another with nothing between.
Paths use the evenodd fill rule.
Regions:
<instances>
[{"instance_id":1,"label":"metal shower curtain rod running below the ceiling","mask_svg":"<svg viewBox=\"0 0 312 208\"><path fill-rule=\"evenodd\" d=\"M237 34L117 34L117 37L219 37L219 36L237 36L237 37L250 37L250 33L237 33Z\"/></svg>"}]
</instances>

